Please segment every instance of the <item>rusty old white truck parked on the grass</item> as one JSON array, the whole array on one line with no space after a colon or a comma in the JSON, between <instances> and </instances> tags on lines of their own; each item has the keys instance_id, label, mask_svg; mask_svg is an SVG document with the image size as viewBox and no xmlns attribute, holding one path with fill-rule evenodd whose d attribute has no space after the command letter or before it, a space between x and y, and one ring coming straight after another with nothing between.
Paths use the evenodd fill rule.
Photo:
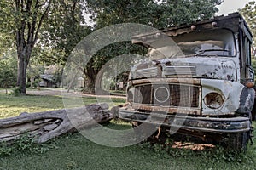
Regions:
<instances>
[{"instance_id":1,"label":"rusty old white truck parked on the grass","mask_svg":"<svg viewBox=\"0 0 256 170\"><path fill-rule=\"evenodd\" d=\"M241 14L132 37L148 60L131 68L119 118L243 150L251 139L253 36Z\"/></svg>"}]
</instances>

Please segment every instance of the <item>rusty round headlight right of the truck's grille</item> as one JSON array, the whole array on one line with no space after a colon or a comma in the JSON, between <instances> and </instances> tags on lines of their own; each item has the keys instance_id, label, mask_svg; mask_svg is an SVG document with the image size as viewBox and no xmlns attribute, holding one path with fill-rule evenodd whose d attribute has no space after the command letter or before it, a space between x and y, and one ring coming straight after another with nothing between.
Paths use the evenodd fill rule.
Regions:
<instances>
[{"instance_id":1,"label":"rusty round headlight right of the truck's grille","mask_svg":"<svg viewBox=\"0 0 256 170\"><path fill-rule=\"evenodd\" d=\"M221 94L212 92L206 95L204 103L211 109L218 109L224 104L224 99Z\"/></svg>"}]
</instances>

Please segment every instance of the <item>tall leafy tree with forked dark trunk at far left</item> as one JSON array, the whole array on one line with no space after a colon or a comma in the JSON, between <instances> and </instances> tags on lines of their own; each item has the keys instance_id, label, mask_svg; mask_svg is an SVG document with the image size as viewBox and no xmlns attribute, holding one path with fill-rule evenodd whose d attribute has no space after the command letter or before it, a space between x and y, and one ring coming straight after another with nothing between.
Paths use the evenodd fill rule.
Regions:
<instances>
[{"instance_id":1,"label":"tall leafy tree with forked dark trunk at far left","mask_svg":"<svg viewBox=\"0 0 256 170\"><path fill-rule=\"evenodd\" d=\"M49 14L52 0L8 0L1 1L2 29L12 34L18 55L17 86L26 94L26 69L32 56L32 49L44 20Z\"/></svg>"}]
</instances>

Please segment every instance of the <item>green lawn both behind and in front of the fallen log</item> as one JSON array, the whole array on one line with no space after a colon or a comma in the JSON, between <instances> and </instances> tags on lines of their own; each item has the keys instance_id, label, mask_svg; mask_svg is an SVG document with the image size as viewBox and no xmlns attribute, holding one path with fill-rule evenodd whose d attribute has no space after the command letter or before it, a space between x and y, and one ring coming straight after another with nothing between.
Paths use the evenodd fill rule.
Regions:
<instances>
[{"instance_id":1,"label":"green lawn both behind and in front of the fallen log","mask_svg":"<svg viewBox=\"0 0 256 170\"><path fill-rule=\"evenodd\" d=\"M84 98L84 103L95 103L95 98ZM122 99L115 100L119 105ZM0 116L16 116L20 112L48 111L63 108L61 97L22 96L0 94ZM256 123L253 122L254 127ZM110 122L105 127L124 129L131 127L122 122ZM256 132L254 132L256 135ZM143 170L143 169L255 169L256 144L248 144L247 153L225 153L221 148L203 151L165 150L160 144L136 144L123 148L111 148L95 144L79 133L65 134L46 144L17 144L21 147L0 147L0 169L81 169L81 170ZM26 147L25 147L26 146ZM24 149L25 147L25 149ZM1 156L1 150L11 150Z\"/></svg>"}]
</instances>

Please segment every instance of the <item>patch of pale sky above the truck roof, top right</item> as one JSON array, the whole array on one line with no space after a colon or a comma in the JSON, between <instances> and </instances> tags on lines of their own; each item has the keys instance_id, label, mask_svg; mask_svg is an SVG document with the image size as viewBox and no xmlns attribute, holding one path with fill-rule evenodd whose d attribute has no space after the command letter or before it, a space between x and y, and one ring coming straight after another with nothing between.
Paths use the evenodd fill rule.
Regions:
<instances>
[{"instance_id":1,"label":"patch of pale sky above the truck roof, top right","mask_svg":"<svg viewBox=\"0 0 256 170\"><path fill-rule=\"evenodd\" d=\"M221 5L217 6L219 9L217 15L227 15L233 12L237 12L238 8L244 8L245 5L251 1L253 0L224 0Z\"/></svg>"}]
</instances>

